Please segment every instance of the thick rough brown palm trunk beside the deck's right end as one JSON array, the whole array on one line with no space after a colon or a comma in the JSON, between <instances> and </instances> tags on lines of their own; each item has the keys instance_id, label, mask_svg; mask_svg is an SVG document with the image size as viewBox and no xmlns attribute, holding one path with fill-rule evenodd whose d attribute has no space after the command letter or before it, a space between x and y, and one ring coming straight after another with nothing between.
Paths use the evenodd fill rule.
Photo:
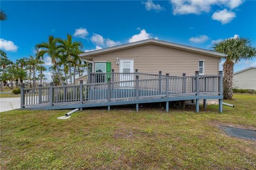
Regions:
<instances>
[{"instance_id":1,"label":"thick rough brown palm trunk beside the deck's right end","mask_svg":"<svg viewBox=\"0 0 256 170\"><path fill-rule=\"evenodd\" d=\"M223 72L223 98L232 99L234 62L226 60L225 63L223 64Z\"/></svg>"}]
</instances>

